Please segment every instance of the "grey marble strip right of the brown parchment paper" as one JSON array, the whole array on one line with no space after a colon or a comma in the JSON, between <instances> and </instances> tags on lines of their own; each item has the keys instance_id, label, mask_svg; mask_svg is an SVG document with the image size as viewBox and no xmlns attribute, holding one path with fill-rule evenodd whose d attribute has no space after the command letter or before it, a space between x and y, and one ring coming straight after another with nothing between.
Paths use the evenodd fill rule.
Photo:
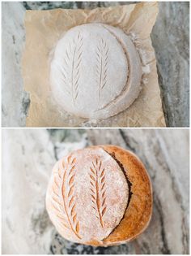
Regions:
<instances>
[{"instance_id":1,"label":"grey marble strip right of the brown parchment paper","mask_svg":"<svg viewBox=\"0 0 191 256\"><path fill-rule=\"evenodd\" d=\"M189 2L160 2L151 33L167 124L189 126Z\"/></svg>"}]
</instances>

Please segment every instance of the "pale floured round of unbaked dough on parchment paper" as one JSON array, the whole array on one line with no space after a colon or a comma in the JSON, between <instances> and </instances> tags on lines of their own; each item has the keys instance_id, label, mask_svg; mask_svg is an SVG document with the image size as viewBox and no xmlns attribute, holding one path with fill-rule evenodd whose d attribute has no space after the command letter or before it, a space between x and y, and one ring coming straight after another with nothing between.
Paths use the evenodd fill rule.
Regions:
<instances>
[{"instance_id":1,"label":"pale floured round of unbaked dough on parchment paper","mask_svg":"<svg viewBox=\"0 0 191 256\"><path fill-rule=\"evenodd\" d=\"M83 118L105 119L138 97L142 68L134 44L119 28L83 24L58 42L50 67L55 102Z\"/></svg>"}]
</instances>

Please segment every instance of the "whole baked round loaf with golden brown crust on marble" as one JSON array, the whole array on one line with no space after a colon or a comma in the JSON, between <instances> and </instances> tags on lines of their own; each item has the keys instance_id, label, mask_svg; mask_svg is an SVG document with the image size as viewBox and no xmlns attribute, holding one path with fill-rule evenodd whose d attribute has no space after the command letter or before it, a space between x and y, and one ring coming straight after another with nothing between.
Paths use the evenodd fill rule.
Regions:
<instances>
[{"instance_id":1,"label":"whole baked round loaf with golden brown crust on marble","mask_svg":"<svg viewBox=\"0 0 191 256\"><path fill-rule=\"evenodd\" d=\"M67 240L119 245L147 227L152 212L151 182L140 160L128 150L91 146L55 164L46 208Z\"/></svg>"}]
</instances>

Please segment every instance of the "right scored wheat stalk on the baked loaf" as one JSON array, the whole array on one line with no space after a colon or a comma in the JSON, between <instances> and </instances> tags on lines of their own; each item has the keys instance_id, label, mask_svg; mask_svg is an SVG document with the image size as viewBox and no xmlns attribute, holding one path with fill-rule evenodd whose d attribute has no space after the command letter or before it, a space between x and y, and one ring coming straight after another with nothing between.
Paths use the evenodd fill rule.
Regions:
<instances>
[{"instance_id":1,"label":"right scored wheat stalk on the baked loaf","mask_svg":"<svg viewBox=\"0 0 191 256\"><path fill-rule=\"evenodd\" d=\"M96 158L90 167L91 184L91 202L92 208L96 210L96 218L100 220L100 225L104 228L103 217L107 210L106 189L105 189L105 169L102 167L102 161Z\"/></svg>"}]
</instances>

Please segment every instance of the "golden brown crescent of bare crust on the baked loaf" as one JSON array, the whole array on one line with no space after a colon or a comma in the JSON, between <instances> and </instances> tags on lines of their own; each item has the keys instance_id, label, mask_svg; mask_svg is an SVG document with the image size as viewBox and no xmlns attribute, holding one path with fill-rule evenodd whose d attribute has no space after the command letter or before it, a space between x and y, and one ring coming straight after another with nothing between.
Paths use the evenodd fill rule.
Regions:
<instances>
[{"instance_id":1,"label":"golden brown crescent of bare crust on the baked loaf","mask_svg":"<svg viewBox=\"0 0 191 256\"><path fill-rule=\"evenodd\" d=\"M151 219L151 182L146 168L134 154L113 145L104 145L102 148L109 154L115 154L115 158L122 163L126 176L132 184L132 196L125 216L104 243L130 241L143 232Z\"/></svg>"}]
</instances>

